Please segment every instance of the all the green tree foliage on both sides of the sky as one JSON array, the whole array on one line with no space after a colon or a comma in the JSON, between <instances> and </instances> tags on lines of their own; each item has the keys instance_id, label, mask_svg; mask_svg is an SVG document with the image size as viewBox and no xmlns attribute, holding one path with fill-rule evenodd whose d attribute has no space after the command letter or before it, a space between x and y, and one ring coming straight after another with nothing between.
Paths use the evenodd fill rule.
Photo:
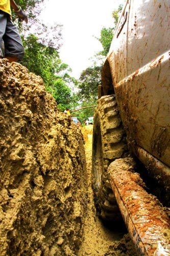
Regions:
<instances>
[{"instance_id":1,"label":"all the green tree foliage on both sides of the sky","mask_svg":"<svg viewBox=\"0 0 170 256\"><path fill-rule=\"evenodd\" d=\"M62 26L54 24L48 27L38 19L43 2L44 0L16 0L16 3L26 11L29 17L29 24L26 25L24 22L18 22L18 18L13 13L13 19L18 23L25 47L22 65L26 66L30 72L42 77L46 90L54 96L61 111L64 111L66 107L74 110L79 106L95 105L98 98L98 86L101 84L102 66L95 64L94 67L84 70L79 82L70 77L71 69L59 57L59 49L62 45ZM112 13L115 25L120 10L122 10L122 6ZM30 28L31 33L29 32ZM103 58L107 55L114 29L115 27L101 30L101 37L98 40L101 42L103 50L95 56L96 58ZM74 93L74 88L77 86L79 92ZM82 122L93 114L94 108L72 113L72 115L78 116Z\"/></svg>"}]
</instances>

